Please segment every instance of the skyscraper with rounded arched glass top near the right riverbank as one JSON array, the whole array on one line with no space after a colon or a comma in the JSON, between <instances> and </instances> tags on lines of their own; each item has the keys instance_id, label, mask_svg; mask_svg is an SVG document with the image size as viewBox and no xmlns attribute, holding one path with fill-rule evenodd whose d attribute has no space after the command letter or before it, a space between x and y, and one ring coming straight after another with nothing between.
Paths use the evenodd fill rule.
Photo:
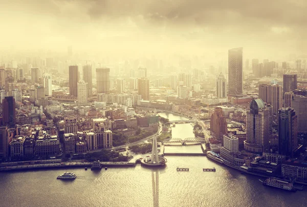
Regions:
<instances>
[{"instance_id":1,"label":"skyscraper with rounded arched glass top near the right riverbank","mask_svg":"<svg viewBox=\"0 0 307 207\"><path fill-rule=\"evenodd\" d=\"M247 139L244 149L254 153L269 150L270 112L264 101L259 98L252 100L246 118Z\"/></svg>"}]
</instances>

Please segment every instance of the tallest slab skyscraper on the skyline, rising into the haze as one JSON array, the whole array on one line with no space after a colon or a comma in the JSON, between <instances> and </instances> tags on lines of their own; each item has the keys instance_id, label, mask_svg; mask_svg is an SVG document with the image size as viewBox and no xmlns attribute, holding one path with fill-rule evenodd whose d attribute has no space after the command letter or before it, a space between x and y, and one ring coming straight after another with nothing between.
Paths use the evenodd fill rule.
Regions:
<instances>
[{"instance_id":1,"label":"tallest slab skyscraper on the skyline, rising into the haze","mask_svg":"<svg viewBox=\"0 0 307 207\"><path fill-rule=\"evenodd\" d=\"M242 90L242 55L243 48L228 50L228 90L229 94L237 95Z\"/></svg>"}]
</instances>

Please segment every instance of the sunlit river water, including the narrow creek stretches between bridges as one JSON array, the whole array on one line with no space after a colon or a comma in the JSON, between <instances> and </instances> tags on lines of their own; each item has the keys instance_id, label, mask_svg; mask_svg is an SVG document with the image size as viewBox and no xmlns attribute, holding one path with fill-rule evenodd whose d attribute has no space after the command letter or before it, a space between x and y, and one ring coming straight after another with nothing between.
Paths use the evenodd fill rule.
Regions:
<instances>
[{"instance_id":1,"label":"sunlit river water, including the narrow creek stretches between bridges","mask_svg":"<svg viewBox=\"0 0 307 207\"><path fill-rule=\"evenodd\" d=\"M185 119L161 114L170 120ZM189 124L187 124L188 126ZM186 127L188 129L188 127ZM192 127L173 134L190 137ZM177 131L178 130L178 131ZM180 132L179 132L180 131ZM186 133L185 133L186 132ZM176 147L175 147L176 148ZM184 146L193 151L195 146ZM189 149L190 148L190 149ZM178 147L183 149L183 147ZM198 150L195 148L195 150ZM75 180L57 180L63 169L0 173L0 206L306 206L305 191L265 187L257 176L217 164L204 156L166 156L163 169L141 165L101 172L68 169ZM190 168L177 172L177 166ZM202 168L215 167L216 172Z\"/></svg>"}]
</instances>

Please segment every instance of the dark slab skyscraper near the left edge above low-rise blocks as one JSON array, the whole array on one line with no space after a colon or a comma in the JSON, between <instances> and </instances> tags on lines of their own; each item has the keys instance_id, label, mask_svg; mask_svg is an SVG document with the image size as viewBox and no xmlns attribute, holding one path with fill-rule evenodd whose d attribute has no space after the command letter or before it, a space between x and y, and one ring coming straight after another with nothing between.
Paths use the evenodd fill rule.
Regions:
<instances>
[{"instance_id":1,"label":"dark slab skyscraper near the left edge above low-rise blocks","mask_svg":"<svg viewBox=\"0 0 307 207\"><path fill-rule=\"evenodd\" d=\"M16 107L13 96L7 96L2 101L3 125L10 128L15 127Z\"/></svg>"}]
</instances>

